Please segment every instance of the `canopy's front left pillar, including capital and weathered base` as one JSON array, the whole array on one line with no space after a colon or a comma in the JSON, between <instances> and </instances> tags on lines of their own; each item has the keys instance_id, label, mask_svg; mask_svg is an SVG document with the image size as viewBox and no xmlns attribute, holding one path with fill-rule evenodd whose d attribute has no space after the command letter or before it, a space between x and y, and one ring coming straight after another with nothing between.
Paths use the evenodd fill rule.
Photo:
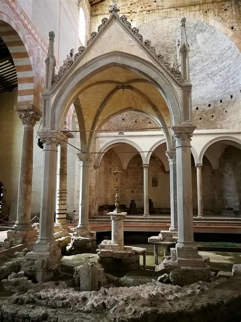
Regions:
<instances>
[{"instance_id":1,"label":"canopy's front left pillar, including capital and weathered base","mask_svg":"<svg viewBox=\"0 0 241 322\"><path fill-rule=\"evenodd\" d=\"M44 143L40 229L39 237L34 244L33 251L27 253L25 258L26 260L32 260L32 262L37 260L35 265L37 280L43 281L52 276L53 270L59 265L59 259L61 258L61 250L58 248L56 241L54 241L53 227L56 195L57 145L65 139L65 136L61 132L52 130L39 132L39 137ZM41 265L39 259L42 260ZM30 262L28 265L30 265ZM46 273L46 271L48 272Z\"/></svg>"}]
</instances>

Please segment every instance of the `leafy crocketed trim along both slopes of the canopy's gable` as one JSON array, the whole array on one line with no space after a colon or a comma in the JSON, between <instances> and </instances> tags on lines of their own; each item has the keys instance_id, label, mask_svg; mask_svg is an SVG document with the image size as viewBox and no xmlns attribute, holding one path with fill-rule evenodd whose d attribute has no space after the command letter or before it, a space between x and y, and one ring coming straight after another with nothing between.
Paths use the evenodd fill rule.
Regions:
<instances>
[{"instance_id":1,"label":"leafy crocketed trim along both slopes of the canopy's gable","mask_svg":"<svg viewBox=\"0 0 241 322\"><path fill-rule=\"evenodd\" d=\"M164 59L164 56L161 52L156 53L156 48L152 46L152 43L149 39L145 39L143 41L143 36L139 34L139 29L136 27L131 28L131 23L127 20L126 15L122 15L121 17L118 16L117 12L119 9L117 8L116 3L113 3L110 9L110 13L115 16L116 19L118 19L122 24L125 26L125 28L131 32L135 38L144 45L144 47L152 54L152 56L156 59L156 61L161 64L168 73L173 76L178 83L182 83L182 76L179 71L179 67L172 62L171 67L169 66L169 63ZM105 24L107 23L109 19L108 18L102 18L101 24L98 26L98 33L103 29ZM185 31L186 32L186 31ZM88 47L89 44L95 39L95 37L98 35L97 32L91 33L91 38L86 42L86 46ZM58 82L63 78L63 76L66 74L66 72L70 69L70 67L80 59L80 56L82 55L83 51L86 48L84 46L80 46L78 48L78 52L74 55L73 49L71 49L70 56L67 55L67 59L64 61L64 64L59 68L59 71L57 74L54 75L54 82L52 83L51 88L53 89Z\"/></svg>"}]
</instances>

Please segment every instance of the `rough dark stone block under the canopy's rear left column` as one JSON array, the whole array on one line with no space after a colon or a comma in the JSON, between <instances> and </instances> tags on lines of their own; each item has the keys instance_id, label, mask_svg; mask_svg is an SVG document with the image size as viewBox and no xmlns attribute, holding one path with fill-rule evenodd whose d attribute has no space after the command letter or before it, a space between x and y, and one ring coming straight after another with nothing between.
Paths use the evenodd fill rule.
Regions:
<instances>
[{"instance_id":1,"label":"rough dark stone block under the canopy's rear left column","mask_svg":"<svg viewBox=\"0 0 241 322\"><path fill-rule=\"evenodd\" d=\"M89 232L88 236L74 235L71 237L70 245L66 247L67 255L84 253L96 254L96 232Z\"/></svg>"}]
</instances>

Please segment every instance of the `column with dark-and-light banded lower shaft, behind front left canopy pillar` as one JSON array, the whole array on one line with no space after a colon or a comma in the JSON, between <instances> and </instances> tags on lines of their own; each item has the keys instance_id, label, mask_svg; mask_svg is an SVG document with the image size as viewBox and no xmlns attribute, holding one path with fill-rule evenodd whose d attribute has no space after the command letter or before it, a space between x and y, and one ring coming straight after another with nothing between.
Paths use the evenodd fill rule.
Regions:
<instances>
[{"instance_id":1,"label":"column with dark-and-light banded lower shaft, behind front left canopy pillar","mask_svg":"<svg viewBox=\"0 0 241 322\"><path fill-rule=\"evenodd\" d=\"M57 190L56 190L56 218L57 224L66 225L67 216L67 150L68 138L73 138L71 133L66 133L65 141L58 147L57 164Z\"/></svg>"}]
</instances>

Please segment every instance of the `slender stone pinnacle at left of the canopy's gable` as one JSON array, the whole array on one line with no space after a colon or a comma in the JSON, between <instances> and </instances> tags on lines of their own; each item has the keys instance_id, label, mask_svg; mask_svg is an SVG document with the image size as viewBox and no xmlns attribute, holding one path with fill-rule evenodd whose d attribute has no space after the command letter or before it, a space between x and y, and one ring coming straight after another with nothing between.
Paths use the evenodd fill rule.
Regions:
<instances>
[{"instance_id":1,"label":"slender stone pinnacle at left of the canopy's gable","mask_svg":"<svg viewBox=\"0 0 241 322\"><path fill-rule=\"evenodd\" d=\"M54 57L54 37L53 31L49 32L49 44L48 44L48 55L45 59L45 82L44 82L44 92L51 91L51 84L54 81L54 68L56 66L56 61Z\"/></svg>"}]
</instances>

